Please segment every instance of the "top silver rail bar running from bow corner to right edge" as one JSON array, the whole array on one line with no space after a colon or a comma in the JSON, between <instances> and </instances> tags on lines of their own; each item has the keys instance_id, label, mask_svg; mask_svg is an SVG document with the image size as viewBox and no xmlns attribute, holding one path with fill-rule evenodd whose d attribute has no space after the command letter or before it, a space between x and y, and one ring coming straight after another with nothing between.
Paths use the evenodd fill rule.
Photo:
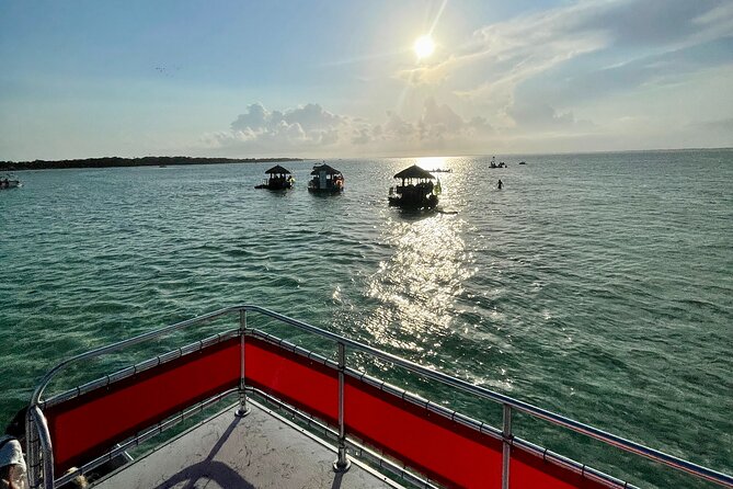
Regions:
<instances>
[{"instance_id":1,"label":"top silver rail bar running from bow corner to right edge","mask_svg":"<svg viewBox=\"0 0 733 489\"><path fill-rule=\"evenodd\" d=\"M318 334L323 338L328 338L332 341L335 342L342 342L346 344L350 349L354 350L359 350L365 353L369 353L373 356L376 356L381 360L386 360L390 363L393 363L396 365L402 366L404 368L408 368L412 372L416 372L419 374L422 374L428 378L433 378L435 380L442 382L446 385L459 388L461 390L466 390L468 393L471 393L476 396L482 397L484 399L490 399L493 400L494 402L500 402L502 405L507 405L511 406L513 409L516 409L522 412L526 412L527 414L530 414L535 418L540 418L543 419L548 422L551 422L553 424L558 424L560 427L568 428L571 431L575 431L577 433L584 434L586 436L589 436L595 440L599 440L606 444L609 444L611 446L616 446L618 448L621 448L627 452L634 453L637 455L641 455L643 457L650 458L655 462L660 462L662 464L668 465L671 467L687 471L689 474L692 474L695 476L701 477L703 479L722 484L724 486L733 487L733 477L719 473L717 470L712 470L708 467L703 467L701 465L694 464L688 460L684 460L682 458L675 457L673 455L666 454L664 452L660 452L654 448L650 448L648 446L644 446L640 443L632 442L630 440L626 440L621 436L615 435L612 433L608 433L606 431L599 430L597 428L581 423L579 421L572 420L570 418L565 418L563 416L557 414L554 412L548 411L542 408L538 408L536 406L529 405L527 402L523 402L517 399L513 399L508 396L505 396L500 393L495 393L493 390L489 390L486 388L476 386L473 384L470 384L466 380L461 380L459 378L451 377L447 374L444 374L442 372L437 372L431 368L426 368L422 365L419 365L414 362L411 362L405 359L401 359L397 355L393 355L391 353L382 352L381 350L377 350L373 346L366 345L364 343L360 343L355 340L351 340L348 338L341 337L336 333L333 333L331 331L325 331L323 329L317 328L314 326L308 325L306 322L299 321L297 319L289 318L287 316L280 315L278 312L272 311L270 309L266 309L264 307L260 306L253 306L253 305L243 305L239 306L241 308L244 308L245 310L251 310L255 312L260 312L264 316L268 316L271 318L277 319L280 322L285 322L287 325L295 326L296 328L302 329L305 331L312 332L314 334Z\"/></svg>"}]
</instances>

